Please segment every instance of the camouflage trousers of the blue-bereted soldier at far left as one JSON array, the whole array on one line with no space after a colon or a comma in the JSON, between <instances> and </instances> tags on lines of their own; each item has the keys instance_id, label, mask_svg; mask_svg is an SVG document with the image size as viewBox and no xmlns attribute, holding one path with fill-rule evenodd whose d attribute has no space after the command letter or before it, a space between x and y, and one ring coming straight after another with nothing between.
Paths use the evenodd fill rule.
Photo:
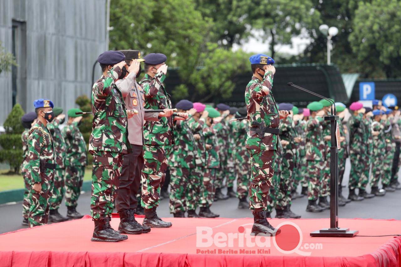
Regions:
<instances>
[{"instance_id":1,"label":"camouflage trousers of the blue-bereted soldier at far left","mask_svg":"<svg viewBox=\"0 0 401 267\"><path fill-rule=\"evenodd\" d=\"M29 190L29 226L46 225L49 220L49 200L53 192L54 170L47 169L41 172L41 192L36 192L30 184Z\"/></svg>"}]
</instances>

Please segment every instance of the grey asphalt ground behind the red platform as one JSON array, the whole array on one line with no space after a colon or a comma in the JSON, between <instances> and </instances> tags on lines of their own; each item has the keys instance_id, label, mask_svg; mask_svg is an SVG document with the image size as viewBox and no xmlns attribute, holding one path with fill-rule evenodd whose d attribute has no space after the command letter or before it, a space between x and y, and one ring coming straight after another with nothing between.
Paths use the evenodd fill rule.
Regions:
<instances>
[{"instance_id":1,"label":"grey asphalt ground behind the red platform","mask_svg":"<svg viewBox=\"0 0 401 267\"><path fill-rule=\"evenodd\" d=\"M344 177L343 184L348 182L349 162L346 166L346 177ZM348 189L343 188L344 196L348 196ZM370 188L368 189L368 192ZM89 214L89 201L90 192L85 192L81 195L78 201L77 210L83 214ZM299 198L293 201L292 210L297 214L302 215L302 218L329 218L329 210L320 213L306 212L306 198ZM243 218L251 217L249 210L237 209L238 200L230 198L228 200L217 201L213 204L211 210L226 218ZM60 208L61 214L66 214L67 208L62 204ZM22 205L20 203L12 205L0 206L0 233L15 231L22 228L20 225L22 221ZM168 199L164 199L158 208L158 215L160 217L172 217L168 211ZM275 213L273 212L272 216ZM397 219L401 220L401 190L396 192L388 192L383 197L375 197L365 199L361 202L351 202L344 207L339 208L339 218L377 218L377 219ZM341 223L340 223L341 226ZM328 225L329 227L329 225Z\"/></svg>"}]
</instances>

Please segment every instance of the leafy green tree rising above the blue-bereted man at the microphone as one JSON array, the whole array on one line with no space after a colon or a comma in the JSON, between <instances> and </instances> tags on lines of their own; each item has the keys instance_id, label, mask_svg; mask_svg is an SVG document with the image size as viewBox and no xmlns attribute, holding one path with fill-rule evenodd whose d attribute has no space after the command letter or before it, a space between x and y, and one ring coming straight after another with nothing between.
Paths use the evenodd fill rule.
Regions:
<instances>
[{"instance_id":1,"label":"leafy green tree rising above the blue-bereted man at the microphone","mask_svg":"<svg viewBox=\"0 0 401 267\"><path fill-rule=\"evenodd\" d=\"M291 44L291 38L299 36L303 28L316 28L320 14L313 8L311 0L256 0L249 12L255 29L264 32L263 38L270 38L269 50L274 58L274 46ZM266 49L267 50L267 49Z\"/></svg>"}]
</instances>

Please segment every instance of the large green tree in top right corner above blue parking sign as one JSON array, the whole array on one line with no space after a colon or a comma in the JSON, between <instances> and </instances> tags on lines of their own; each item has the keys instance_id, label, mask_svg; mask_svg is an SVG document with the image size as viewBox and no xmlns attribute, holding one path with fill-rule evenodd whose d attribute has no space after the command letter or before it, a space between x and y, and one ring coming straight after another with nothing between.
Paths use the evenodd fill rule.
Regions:
<instances>
[{"instance_id":1,"label":"large green tree in top right corner above blue parking sign","mask_svg":"<svg viewBox=\"0 0 401 267\"><path fill-rule=\"evenodd\" d=\"M350 46L365 77L401 76L401 2L360 2Z\"/></svg>"}]
</instances>

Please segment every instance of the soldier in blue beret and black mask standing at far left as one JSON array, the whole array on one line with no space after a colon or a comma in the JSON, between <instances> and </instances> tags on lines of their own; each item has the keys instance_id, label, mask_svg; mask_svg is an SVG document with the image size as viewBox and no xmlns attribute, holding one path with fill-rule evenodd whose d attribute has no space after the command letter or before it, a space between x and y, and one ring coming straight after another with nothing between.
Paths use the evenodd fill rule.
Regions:
<instances>
[{"instance_id":1,"label":"soldier in blue beret and black mask standing at far left","mask_svg":"<svg viewBox=\"0 0 401 267\"><path fill-rule=\"evenodd\" d=\"M49 199L53 190L55 153L47 123L54 119L53 102L49 99L34 101L37 119L30 128L26 142L29 161L29 226L45 225L49 220Z\"/></svg>"}]
</instances>

